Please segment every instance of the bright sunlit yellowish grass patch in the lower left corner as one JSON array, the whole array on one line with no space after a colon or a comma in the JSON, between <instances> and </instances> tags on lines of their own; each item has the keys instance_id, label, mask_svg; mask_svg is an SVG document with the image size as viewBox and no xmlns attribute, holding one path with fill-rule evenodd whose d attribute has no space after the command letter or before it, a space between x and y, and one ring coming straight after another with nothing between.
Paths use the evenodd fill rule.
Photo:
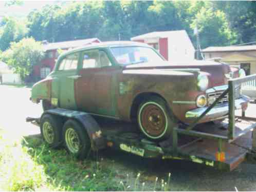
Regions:
<instances>
[{"instance_id":1,"label":"bright sunlit yellowish grass patch in the lower left corner","mask_svg":"<svg viewBox=\"0 0 256 192\"><path fill-rule=\"evenodd\" d=\"M22 138L0 132L0 189L35 190L46 186L44 167L28 155L28 147L21 145ZM48 187L47 187L48 188Z\"/></svg>"}]
</instances>

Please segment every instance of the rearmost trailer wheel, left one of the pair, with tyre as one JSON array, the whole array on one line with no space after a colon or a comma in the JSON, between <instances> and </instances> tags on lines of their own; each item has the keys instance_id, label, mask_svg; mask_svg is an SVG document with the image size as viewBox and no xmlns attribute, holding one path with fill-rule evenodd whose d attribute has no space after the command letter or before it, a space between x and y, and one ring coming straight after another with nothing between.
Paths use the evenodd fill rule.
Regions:
<instances>
[{"instance_id":1,"label":"rearmost trailer wheel, left one of the pair, with tyre","mask_svg":"<svg viewBox=\"0 0 256 192\"><path fill-rule=\"evenodd\" d=\"M40 131L43 139L53 148L62 144L62 123L58 117L46 114L41 118Z\"/></svg>"}]
</instances>

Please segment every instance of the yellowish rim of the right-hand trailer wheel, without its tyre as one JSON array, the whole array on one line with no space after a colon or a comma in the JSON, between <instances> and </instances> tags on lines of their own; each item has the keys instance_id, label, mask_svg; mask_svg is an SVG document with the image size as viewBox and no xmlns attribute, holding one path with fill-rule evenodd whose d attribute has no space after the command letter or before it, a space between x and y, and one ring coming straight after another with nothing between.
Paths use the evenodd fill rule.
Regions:
<instances>
[{"instance_id":1,"label":"yellowish rim of the right-hand trailer wheel, without its tyre","mask_svg":"<svg viewBox=\"0 0 256 192\"><path fill-rule=\"evenodd\" d=\"M78 137L77 132L72 129L68 128L65 134L65 140L68 147L68 150L71 153L78 153L80 147L80 139Z\"/></svg>"}]
</instances>

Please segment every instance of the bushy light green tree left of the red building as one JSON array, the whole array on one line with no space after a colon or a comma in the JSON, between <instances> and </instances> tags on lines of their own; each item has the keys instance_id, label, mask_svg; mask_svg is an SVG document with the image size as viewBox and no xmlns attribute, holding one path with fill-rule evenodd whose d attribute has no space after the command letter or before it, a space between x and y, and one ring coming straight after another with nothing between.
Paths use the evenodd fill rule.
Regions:
<instances>
[{"instance_id":1,"label":"bushy light green tree left of the red building","mask_svg":"<svg viewBox=\"0 0 256 192\"><path fill-rule=\"evenodd\" d=\"M10 48L1 54L0 60L6 62L24 80L43 57L41 42L33 38L23 38L19 42L12 42Z\"/></svg>"}]
</instances>

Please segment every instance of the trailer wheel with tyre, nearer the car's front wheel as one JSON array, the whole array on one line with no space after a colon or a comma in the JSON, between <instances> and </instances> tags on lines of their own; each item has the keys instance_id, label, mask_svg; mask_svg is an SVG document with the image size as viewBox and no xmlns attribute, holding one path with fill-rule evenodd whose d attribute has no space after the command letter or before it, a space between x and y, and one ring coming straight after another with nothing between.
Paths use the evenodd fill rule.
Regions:
<instances>
[{"instance_id":1,"label":"trailer wheel with tyre, nearer the car's front wheel","mask_svg":"<svg viewBox=\"0 0 256 192\"><path fill-rule=\"evenodd\" d=\"M77 157L84 159L90 151L90 139L82 125L75 120L67 120L63 126L63 138L66 150Z\"/></svg>"}]
</instances>

